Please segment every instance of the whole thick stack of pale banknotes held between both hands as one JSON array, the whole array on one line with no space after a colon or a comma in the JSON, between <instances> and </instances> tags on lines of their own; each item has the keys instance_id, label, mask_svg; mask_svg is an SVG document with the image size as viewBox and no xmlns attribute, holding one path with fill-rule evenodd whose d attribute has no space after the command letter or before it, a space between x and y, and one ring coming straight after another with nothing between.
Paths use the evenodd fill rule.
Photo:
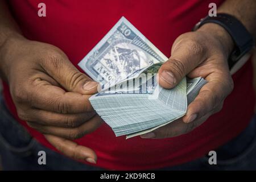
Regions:
<instances>
[{"instance_id":1,"label":"whole thick stack of pale banknotes held between both hands","mask_svg":"<svg viewBox=\"0 0 256 182\"><path fill-rule=\"evenodd\" d=\"M115 135L145 134L185 115L204 78L186 78L173 89L158 84L158 69L168 60L122 17L82 59L79 66L100 82L90 103Z\"/></svg>"}]
</instances>

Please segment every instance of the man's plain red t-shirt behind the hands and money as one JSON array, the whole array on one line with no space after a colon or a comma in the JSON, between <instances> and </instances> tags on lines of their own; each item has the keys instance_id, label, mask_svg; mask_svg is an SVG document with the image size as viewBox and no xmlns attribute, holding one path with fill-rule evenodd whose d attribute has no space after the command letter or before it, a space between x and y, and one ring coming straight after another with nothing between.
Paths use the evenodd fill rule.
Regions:
<instances>
[{"instance_id":1,"label":"man's plain red t-shirt behind the hands and money","mask_svg":"<svg viewBox=\"0 0 256 182\"><path fill-rule=\"evenodd\" d=\"M46 17L38 16L38 4L46 3ZM77 63L103 38L121 16L125 16L167 57L180 34L191 31L208 14L212 0L200 1L10 1L24 36L61 48ZM214 1L217 6L221 0ZM81 71L81 69L80 69ZM173 166L207 154L238 135L250 121L255 104L250 61L234 76L234 90L223 109L191 133L167 139L115 137L105 123L76 142L96 151L96 166L107 169L150 169ZM9 88L4 84L6 104L18 119ZM34 129L20 121L40 143L54 149Z\"/></svg>"}]
</instances>

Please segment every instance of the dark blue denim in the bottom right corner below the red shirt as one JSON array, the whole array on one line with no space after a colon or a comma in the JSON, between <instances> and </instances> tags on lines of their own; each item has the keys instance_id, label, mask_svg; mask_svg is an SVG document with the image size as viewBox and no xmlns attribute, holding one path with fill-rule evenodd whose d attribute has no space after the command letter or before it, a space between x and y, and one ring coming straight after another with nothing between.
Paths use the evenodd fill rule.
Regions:
<instances>
[{"instance_id":1,"label":"dark blue denim in the bottom right corner below the red shirt","mask_svg":"<svg viewBox=\"0 0 256 182\"><path fill-rule=\"evenodd\" d=\"M239 171L256 170L256 114L236 138L217 148L217 164L209 164L209 156L161 170Z\"/></svg>"}]
</instances>

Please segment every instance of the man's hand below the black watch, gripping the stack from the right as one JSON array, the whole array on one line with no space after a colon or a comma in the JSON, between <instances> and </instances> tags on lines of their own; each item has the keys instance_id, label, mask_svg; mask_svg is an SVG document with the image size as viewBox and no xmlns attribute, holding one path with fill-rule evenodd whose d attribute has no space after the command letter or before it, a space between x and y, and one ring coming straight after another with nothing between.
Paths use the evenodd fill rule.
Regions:
<instances>
[{"instance_id":1,"label":"man's hand below the black watch, gripping the stack from the right","mask_svg":"<svg viewBox=\"0 0 256 182\"><path fill-rule=\"evenodd\" d=\"M186 75L204 77L208 83L189 104L183 118L141 137L169 138L186 134L220 111L233 90L227 61L232 48L228 32L217 24L208 23L196 32L179 36L172 46L170 59L159 69L159 84L171 89Z\"/></svg>"}]
</instances>

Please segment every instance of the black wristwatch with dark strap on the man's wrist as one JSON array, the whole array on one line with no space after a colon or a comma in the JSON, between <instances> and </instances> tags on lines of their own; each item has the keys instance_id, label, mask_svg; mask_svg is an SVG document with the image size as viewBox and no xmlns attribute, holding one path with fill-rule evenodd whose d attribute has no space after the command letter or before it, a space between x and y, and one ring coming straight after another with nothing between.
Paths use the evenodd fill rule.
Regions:
<instances>
[{"instance_id":1,"label":"black wristwatch with dark strap on the man's wrist","mask_svg":"<svg viewBox=\"0 0 256 182\"><path fill-rule=\"evenodd\" d=\"M253 36L246 30L245 26L232 15L219 13L217 16L206 16L201 19L199 23L193 27L193 31L203 26L205 23L217 23L225 28L232 37L235 47L229 56L228 64L229 69L232 69L241 60L247 52L254 46Z\"/></svg>"}]
</instances>

